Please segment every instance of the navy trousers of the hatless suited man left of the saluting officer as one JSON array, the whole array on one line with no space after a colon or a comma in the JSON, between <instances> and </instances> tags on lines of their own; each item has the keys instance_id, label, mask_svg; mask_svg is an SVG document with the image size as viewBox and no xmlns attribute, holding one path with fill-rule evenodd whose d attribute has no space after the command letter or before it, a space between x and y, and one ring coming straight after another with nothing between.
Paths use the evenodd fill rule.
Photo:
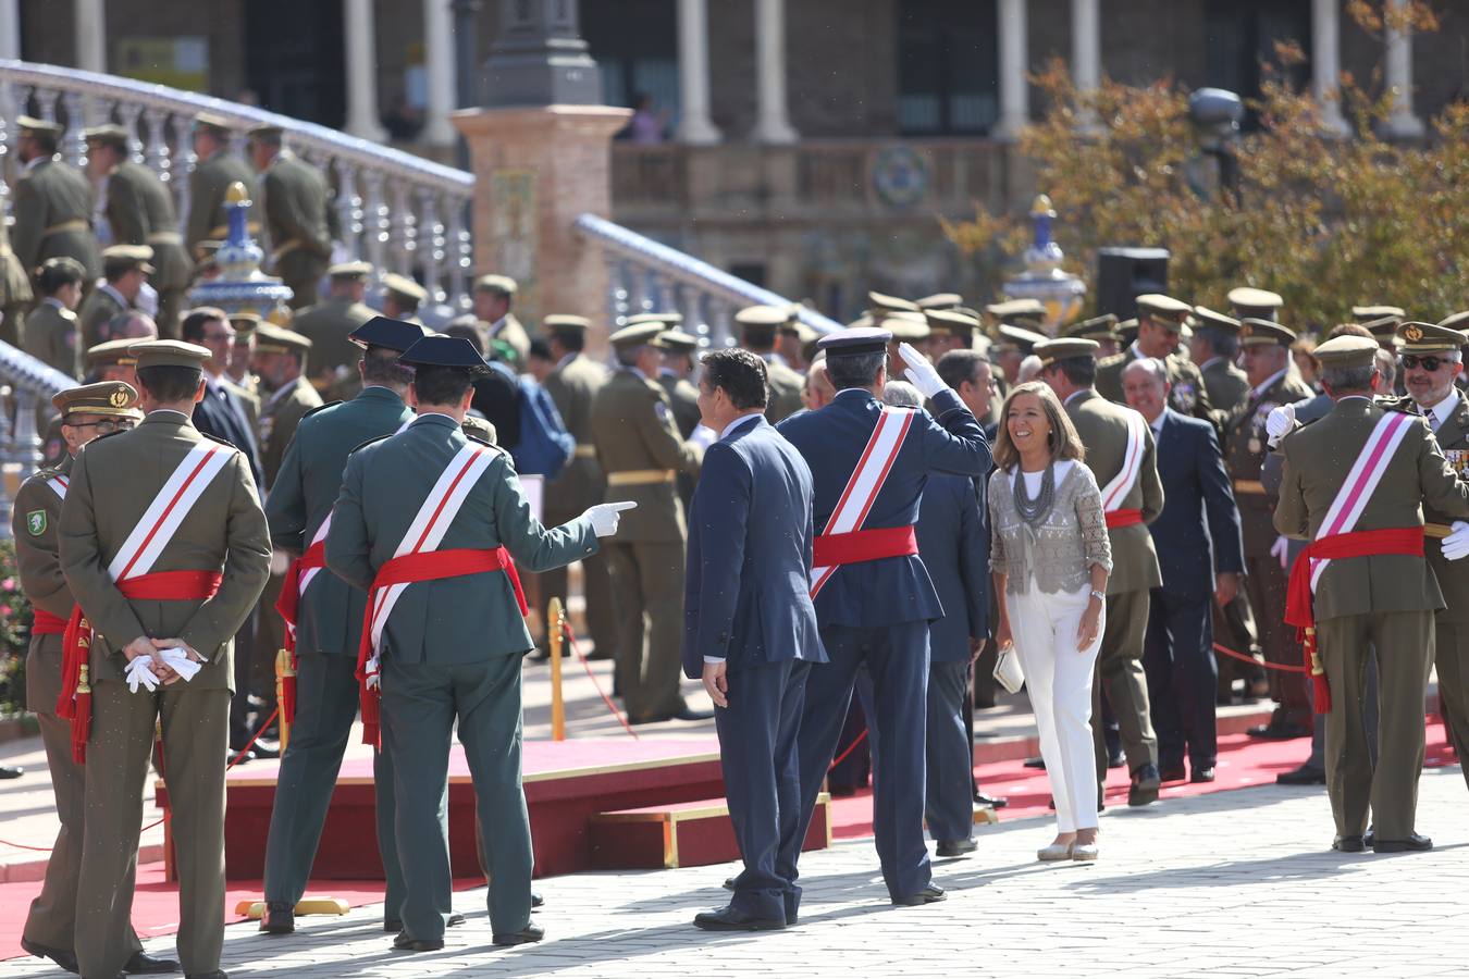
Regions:
<instances>
[{"instance_id":1,"label":"navy trousers of the hatless suited man left of the saluting officer","mask_svg":"<svg viewBox=\"0 0 1469 979\"><path fill-rule=\"evenodd\" d=\"M746 666L727 675L730 706L714 712L724 796L745 862L730 904L768 920L793 920L801 906L796 865L780 841L801 820L796 731L806 675L795 659Z\"/></svg>"}]
</instances>

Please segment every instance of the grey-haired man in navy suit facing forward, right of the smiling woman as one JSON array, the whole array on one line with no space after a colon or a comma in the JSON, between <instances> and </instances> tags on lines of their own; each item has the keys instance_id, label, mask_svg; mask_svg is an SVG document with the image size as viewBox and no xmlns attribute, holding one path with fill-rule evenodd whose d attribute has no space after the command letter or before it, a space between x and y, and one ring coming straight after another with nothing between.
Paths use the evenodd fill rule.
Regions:
<instances>
[{"instance_id":1,"label":"grey-haired man in navy suit facing forward, right of the smiling woman","mask_svg":"<svg viewBox=\"0 0 1469 979\"><path fill-rule=\"evenodd\" d=\"M1210 599L1228 605L1240 589L1244 549L1240 511L1213 426L1168 407L1168 373L1141 358L1122 371L1127 404L1153 429L1163 512L1149 525L1158 545L1163 586L1153 589L1147 612L1143 669L1158 768L1165 782L1212 782L1218 738Z\"/></svg>"}]
</instances>

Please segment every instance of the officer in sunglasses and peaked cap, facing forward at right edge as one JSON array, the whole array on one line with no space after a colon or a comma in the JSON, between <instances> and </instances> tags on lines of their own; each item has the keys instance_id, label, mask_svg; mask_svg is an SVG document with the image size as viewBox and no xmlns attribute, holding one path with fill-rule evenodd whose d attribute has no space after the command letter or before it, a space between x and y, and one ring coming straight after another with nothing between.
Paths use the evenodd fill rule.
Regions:
<instances>
[{"instance_id":1,"label":"officer in sunglasses and peaked cap, facing forward at right edge","mask_svg":"<svg viewBox=\"0 0 1469 979\"><path fill-rule=\"evenodd\" d=\"M1460 478L1469 478L1469 398L1454 385L1463 373L1465 335L1469 313L1448 317L1438 326L1406 323L1398 365L1406 374L1407 395L1428 420L1438 448ZM1434 618L1434 665L1438 669L1438 709L1454 754L1469 754L1469 565L1444 558L1438 542L1450 533L1454 518L1425 506L1428 540L1423 555L1444 592L1445 608ZM1465 769L1469 781L1469 768Z\"/></svg>"}]
</instances>

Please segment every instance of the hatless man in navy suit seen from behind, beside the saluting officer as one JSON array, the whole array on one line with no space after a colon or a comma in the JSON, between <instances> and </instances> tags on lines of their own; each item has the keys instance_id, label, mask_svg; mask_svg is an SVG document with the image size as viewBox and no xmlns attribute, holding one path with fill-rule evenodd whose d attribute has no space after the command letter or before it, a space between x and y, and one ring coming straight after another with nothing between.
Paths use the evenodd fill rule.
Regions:
<instances>
[{"instance_id":1,"label":"hatless man in navy suit seen from behind, beside the saluting officer","mask_svg":"<svg viewBox=\"0 0 1469 979\"><path fill-rule=\"evenodd\" d=\"M811 470L765 421L765 363L704 358L699 415L720 433L689 511L683 671L714 700L724 794L745 870L708 931L796 922L801 888L780 840L801 818L796 728L806 665L826 662L811 605ZM759 509L757 511L757 501Z\"/></svg>"}]
</instances>

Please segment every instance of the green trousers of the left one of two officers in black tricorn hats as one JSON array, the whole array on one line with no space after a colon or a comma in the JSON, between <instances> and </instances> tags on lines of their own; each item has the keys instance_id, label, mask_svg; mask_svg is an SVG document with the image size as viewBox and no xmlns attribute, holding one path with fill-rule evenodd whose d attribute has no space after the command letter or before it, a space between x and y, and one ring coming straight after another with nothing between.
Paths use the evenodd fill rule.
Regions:
<instances>
[{"instance_id":1,"label":"green trousers of the left one of two officers in black tricorn hats","mask_svg":"<svg viewBox=\"0 0 1469 979\"><path fill-rule=\"evenodd\" d=\"M306 894L326 810L336 788L336 774L342 768L342 753L357 719L355 669L357 662L351 656L297 656L295 724L291 725L291 741L281 759L275 804L270 809L270 835L266 838L266 901L294 907ZM404 889L394 835L397 804L392 753L386 744L373 756L373 790L378 851L388 879L383 913L389 920L397 920ZM447 782L444 791L447 800ZM447 825L444 832L448 832Z\"/></svg>"}]
</instances>

